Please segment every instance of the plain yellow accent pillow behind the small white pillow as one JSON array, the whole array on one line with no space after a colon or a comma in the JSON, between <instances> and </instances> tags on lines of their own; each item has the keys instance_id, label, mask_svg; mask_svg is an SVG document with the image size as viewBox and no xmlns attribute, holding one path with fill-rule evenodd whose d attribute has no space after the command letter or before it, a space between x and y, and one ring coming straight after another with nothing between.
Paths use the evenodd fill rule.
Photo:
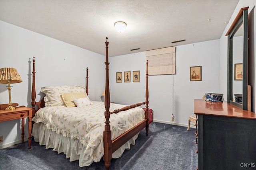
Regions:
<instances>
[{"instance_id":1,"label":"plain yellow accent pillow behind the small white pillow","mask_svg":"<svg viewBox=\"0 0 256 170\"><path fill-rule=\"evenodd\" d=\"M88 96L86 93L80 92L80 93L62 93L61 97L67 107L76 107L76 104L74 103L73 99L85 98Z\"/></svg>"}]
</instances>

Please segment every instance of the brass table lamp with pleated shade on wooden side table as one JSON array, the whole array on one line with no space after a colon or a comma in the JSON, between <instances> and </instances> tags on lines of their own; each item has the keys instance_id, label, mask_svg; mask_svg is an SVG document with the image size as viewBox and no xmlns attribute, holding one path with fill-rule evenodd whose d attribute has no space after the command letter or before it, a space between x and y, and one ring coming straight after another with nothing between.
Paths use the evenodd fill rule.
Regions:
<instances>
[{"instance_id":1,"label":"brass table lamp with pleated shade on wooden side table","mask_svg":"<svg viewBox=\"0 0 256 170\"><path fill-rule=\"evenodd\" d=\"M12 106L11 98L11 83L20 83L22 79L16 68L1 68L0 69L0 83L8 84L9 90L9 106L5 110L15 110L16 108Z\"/></svg>"}]
</instances>

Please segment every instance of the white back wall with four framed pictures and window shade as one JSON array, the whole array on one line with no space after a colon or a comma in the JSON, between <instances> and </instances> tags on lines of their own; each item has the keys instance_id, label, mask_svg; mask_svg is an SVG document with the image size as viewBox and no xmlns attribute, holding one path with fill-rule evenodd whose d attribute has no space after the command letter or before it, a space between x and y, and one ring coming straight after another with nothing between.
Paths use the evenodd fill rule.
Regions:
<instances>
[{"instance_id":1,"label":"white back wall with four framed pictures and window shade","mask_svg":"<svg viewBox=\"0 0 256 170\"><path fill-rule=\"evenodd\" d=\"M111 43L111 42L110 42ZM187 126L194 114L194 99L205 92L220 93L219 40L182 45L176 48L176 74L148 76L149 107L154 120ZM190 82L190 66L202 66L202 81ZM140 70L140 82L116 83L116 72ZM112 102L135 104L145 101L145 52L110 58L110 92Z\"/></svg>"}]
</instances>

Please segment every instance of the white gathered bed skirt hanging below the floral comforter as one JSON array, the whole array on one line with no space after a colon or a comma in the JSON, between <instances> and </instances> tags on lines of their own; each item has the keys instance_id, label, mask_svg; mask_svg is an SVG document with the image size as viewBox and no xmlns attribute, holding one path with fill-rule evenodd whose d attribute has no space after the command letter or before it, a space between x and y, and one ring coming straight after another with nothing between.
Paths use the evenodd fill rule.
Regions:
<instances>
[{"instance_id":1,"label":"white gathered bed skirt hanging below the floral comforter","mask_svg":"<svg viewBox=\"0 0 256 170\"><path fill-rule=\"evenodd\" d=\"M61 133L56 133L54 129L47 129L44 123L34 123L32 129L32 136L39 145L45 145L46 149L53 148L54 151L66 154L66 158L70 158L70 161L79 160L79 166L89 166L92 162L99 162L102 158L96 158L89 156L84 151L87 146L82 145L78 139L71 139L65 137ZM119 158L125 149L130 149L130 145L135 144L135 140L138 138L138 134L132 139L126 142L116 152L112 154L112 158ZM103 156L104 152L102 152Z\"/></svg>"}]
</instances>

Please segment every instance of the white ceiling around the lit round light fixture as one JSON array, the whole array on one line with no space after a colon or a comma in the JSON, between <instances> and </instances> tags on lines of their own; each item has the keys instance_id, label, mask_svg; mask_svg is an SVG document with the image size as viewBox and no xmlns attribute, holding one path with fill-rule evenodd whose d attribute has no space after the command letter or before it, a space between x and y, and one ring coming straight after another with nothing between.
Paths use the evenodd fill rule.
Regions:
<instances>
[{"instance_id":1,"label":"white ceiling around the lit round light fixture","mask_svg":"<svg viewBox=\"0 0 256 170\"><path fill-rule=\"evenodd\" d=\"M108 37L112 57L220 39L238 2L0 0L0 20L102 55ZM116 21L127 23L123 33L115 30Z\"/></svg>"}]
</instances>

